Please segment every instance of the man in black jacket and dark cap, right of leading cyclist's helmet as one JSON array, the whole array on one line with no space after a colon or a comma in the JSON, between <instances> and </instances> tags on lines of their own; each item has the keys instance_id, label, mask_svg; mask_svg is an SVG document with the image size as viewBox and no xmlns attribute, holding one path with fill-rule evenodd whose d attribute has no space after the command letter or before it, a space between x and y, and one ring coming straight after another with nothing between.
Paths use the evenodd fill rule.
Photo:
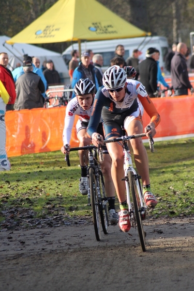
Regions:
<instances>
[{"instance_id":1,"label":"man in black jacket and dark cap, right of leading cyclist's helmet","mask_svg":"<svg viewBox=\"0 0 194 291\"><path fill-rule=\"evenodd\" d=\"M158 66L154 59L156 54L155 48L149 48L146 51L146 59L143 60L136 68L135 80L138 79L140 75L140 82L146 87L146 91L149 97L157 97L157 73Z\"/></svg>"}]
</instances>

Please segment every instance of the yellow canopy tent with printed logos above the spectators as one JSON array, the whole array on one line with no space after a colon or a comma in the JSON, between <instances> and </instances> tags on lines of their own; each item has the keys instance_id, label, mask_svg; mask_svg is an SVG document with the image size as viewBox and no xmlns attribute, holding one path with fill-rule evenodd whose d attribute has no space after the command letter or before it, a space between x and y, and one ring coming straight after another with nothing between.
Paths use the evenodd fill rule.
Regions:
<instances>
[{"instance_id":1,"label":"yellow canopy tent with printed logos above the spectators","mask_svg":"<svg viewBox=\"0 0 194 291\"><path fill-rule=\"evenodd\" d=\"M96 0L59 0L23 31L7 40L14 43L55 43L138 37L147 32L111 12Z\"/></svg>"}]
</instances>

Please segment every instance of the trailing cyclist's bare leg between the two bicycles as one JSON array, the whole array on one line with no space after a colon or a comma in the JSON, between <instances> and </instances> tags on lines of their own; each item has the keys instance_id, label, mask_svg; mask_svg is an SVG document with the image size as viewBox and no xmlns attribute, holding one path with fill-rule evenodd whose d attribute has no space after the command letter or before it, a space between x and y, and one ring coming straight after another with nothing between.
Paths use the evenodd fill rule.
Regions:
<instances>
[{"instance_id":1,"label":"trailing cyclist's bare leg between the two bicycles","mask_svg":"<svg viewBox=\"0 0 194 291\"><path fill-rule=\"evenodd\" d=\"M104 161L100 162L100 164L101 164L101 169L104 176L104 186L105 186L106 196L113 197L115 196L115 186L114 186L112 176L111 176L112 161L111 161L110 155L104 154L103 156L104 156Z\"/></svg>"}]
</instances>

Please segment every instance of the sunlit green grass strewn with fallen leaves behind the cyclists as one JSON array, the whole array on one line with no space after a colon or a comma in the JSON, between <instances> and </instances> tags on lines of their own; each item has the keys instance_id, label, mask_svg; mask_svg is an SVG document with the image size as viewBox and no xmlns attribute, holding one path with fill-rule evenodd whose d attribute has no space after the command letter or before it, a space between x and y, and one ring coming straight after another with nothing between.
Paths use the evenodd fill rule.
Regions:
<instances>
[{"instance_id":1,"label":"sunlit green grass strewn with fallen leaves behind the cyclists","mask_svg":"<svg viewBox=\"0 0 194 291\"><path fill-rule=\"evenodd\" d=\"M159 203L151 215L194 214L194 138L155 143L149 155L152 192ZM0 224L60 216L91 216L87 197L78 190L78 154L67 167L60 151L10 158L11 171L0 172ZM117 203L118 206L118 203Z\"/></svg>"}]
</instances>

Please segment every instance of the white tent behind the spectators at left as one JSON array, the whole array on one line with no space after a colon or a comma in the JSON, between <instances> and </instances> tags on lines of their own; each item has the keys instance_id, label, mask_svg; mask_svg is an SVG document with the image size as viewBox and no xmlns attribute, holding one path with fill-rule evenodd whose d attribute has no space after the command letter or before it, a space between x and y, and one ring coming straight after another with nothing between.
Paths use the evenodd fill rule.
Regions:
<instances>
[{"instance_id":1,"label":"white tent behind the spectators at left","mask_svg":"<svg viewBox=\"0 0 194 291\"><path fill-rule=\"evenodd\" d=\"M10 37L6 35L0 36L0 52L7 52L9 56L8 68L11 71L15 69L17 63L22 65L23 55L28 54L31 57L34 56L40 59L40 68L44 61L52 60L55 65L55 69L60 73L60 75L63 78L69 78L68 68L60 53L28 44L15 43L14 45L8 45L5 43L8 39L10 39Z\"/></svg>"}]
</instances>

